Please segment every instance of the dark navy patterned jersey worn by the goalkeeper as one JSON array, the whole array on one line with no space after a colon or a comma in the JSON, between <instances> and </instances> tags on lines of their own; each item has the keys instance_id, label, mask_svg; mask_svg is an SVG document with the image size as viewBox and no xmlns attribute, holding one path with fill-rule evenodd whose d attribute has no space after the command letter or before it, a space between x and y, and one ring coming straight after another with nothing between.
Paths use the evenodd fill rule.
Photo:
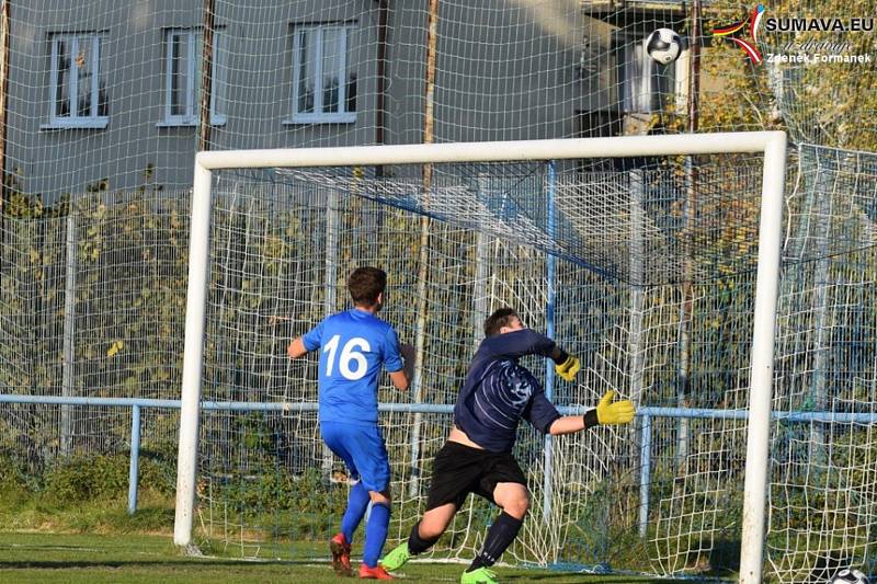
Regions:
<instances>
[{"instance_id":1,"label":"dark navy patterned jersey worn by the goalkeeper","mask_svg":"<svg viewBox=\"0 0 877 584\"><path fill-rule=\"evenodd\" d=\"M454 424L491 453L511 451L522 419L547 433L560 413L517 359L547 357L554 348L554 341L529 329L485 339L469 364L454 406Z\"/></svg>"}]
</instances>

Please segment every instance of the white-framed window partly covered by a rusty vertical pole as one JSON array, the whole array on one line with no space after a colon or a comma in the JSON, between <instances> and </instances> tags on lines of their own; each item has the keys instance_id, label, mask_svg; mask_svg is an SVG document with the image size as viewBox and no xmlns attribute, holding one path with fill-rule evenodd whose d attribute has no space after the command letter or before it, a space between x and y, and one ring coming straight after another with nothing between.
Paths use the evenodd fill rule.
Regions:
<instances>
[{"instance_id":1,"label":"white-framed window partly covered by a rusty vertical pole","mask_svg":"<svg viewBox=\"0 0 877 584\"><path fill-rule=\"evenodd\" d=\"M210 124L226 123L227 68L225 36L213 33ZM170 28L164 33L164 116L159 126L194 126L201 112L202 32Z\"/></svg>"}]
</instances>

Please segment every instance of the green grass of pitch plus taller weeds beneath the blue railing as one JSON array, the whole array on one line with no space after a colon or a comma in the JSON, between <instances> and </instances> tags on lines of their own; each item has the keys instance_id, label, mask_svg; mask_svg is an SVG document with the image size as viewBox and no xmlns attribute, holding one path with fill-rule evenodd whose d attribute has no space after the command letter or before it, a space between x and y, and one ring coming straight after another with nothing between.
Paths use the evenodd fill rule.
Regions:
<instances>
[{"instance_id":1,"label":"green grass of pitch plus taller weeds beneath the blue railing","mask_svg":"<svg viewBox=\"0 0 877 584\"><path fill-rule=\"evenodd\" d=\"M174 500L171 488L141 490L137 513L133 516L127 513L124 489L101 490L104 483L122 480L117 476L127 472L126 460L99 459L90 465L59 467L44 480L50 489L42 483L18 480L18 476L10 474L12 467L2 462L0 459L0 525L4 529L0 531L0 584L338 584L346 580L338 579L331 571L328 549L321 541L274 540L262 545L248 541L226 546L220 538L214 538L202 543L204 557L183 556L172 543ZM94 468L100 471L96 472L100 480L91 477ZM10 476L4 477L4 473ZM299 513L298 520L305 515ZM307 536L314 530L303 529L301 533ZM266 538L259 533L248 537ZM387 549L396 543L390 541ZM354 559L361 553L361 549L354 549ZM243 556L259 560L241 560ZM400 580L459 582L464 569L460 563L411 562L405 566ZM504 566L497 572L501 582L517 584L684 582Z\"/></svg>"}]
</instances>

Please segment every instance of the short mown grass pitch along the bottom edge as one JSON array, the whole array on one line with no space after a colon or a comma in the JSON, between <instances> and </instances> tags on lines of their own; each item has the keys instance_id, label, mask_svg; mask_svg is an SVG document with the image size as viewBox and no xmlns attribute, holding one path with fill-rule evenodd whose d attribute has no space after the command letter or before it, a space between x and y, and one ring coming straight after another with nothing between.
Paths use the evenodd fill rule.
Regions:
<instances>
[{"instance_id":1,"label":"short mown grass pitch along the bottom edge","mask_svg":"<svg viewBox=\"0 0 877 584\"><path fill-rule=\"evenodd\" d=\"M407 582L459 582L458 564L406 565ZM501 582L571 584L673 582L629 575L594 576L499 568ZM226 583L323 584L353 582L334 576L329 564L309 561L241 561L187 558L170 536L0 533L0 582L47 583ZM683 581L676 581L683 582Z\"/></svg>"}]
</instances>

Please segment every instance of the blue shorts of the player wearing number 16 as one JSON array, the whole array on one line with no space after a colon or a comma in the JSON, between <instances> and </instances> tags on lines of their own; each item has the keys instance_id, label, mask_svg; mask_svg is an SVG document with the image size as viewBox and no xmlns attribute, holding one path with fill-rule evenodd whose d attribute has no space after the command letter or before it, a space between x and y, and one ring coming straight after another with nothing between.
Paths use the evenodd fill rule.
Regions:
<instances>
[{"instance_id":1,"label":"blue shorts of the player wearing number 16","mask_svg":"<svg viewBox=\"0 0 877 584\"><path fill-rule=\"evenodd\" d=\"M377 425L320 422L326 445L348 466L351 477L368 491L381 492L390 485L390 461L384 436Z\"/></svg>"}]
</instances>

